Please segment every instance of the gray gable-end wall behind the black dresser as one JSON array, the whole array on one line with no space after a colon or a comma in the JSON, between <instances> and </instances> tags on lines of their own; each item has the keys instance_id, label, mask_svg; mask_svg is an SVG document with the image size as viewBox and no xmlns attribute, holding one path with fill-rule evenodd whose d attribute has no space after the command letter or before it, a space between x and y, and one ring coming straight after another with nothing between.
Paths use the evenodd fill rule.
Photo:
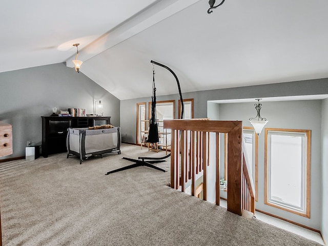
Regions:
<instances>
[{"instance_id":1,"label":"gray gable-end wall behind the black dresser","mask_svg":"<svg viewBox=\"0 0 328 246\"><path fill-rule=\"evenodd\" d=\"M104 116L119 126L120 101L83 73L65 64L53 64L0 73L0 120L12 125L13 154L25 156L27 140L42 141L40 116L52 114L52 108L85 108L93 113L93 100L104 103Z\"/></svg>"}]
</instances>

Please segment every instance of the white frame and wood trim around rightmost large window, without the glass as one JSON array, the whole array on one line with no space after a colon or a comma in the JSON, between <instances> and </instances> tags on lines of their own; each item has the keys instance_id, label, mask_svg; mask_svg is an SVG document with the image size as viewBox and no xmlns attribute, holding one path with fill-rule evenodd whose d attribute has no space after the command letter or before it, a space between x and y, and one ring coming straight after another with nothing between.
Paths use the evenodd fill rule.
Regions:
<instances>
[{"instance_id":1,"label":"white frame and wood trim around rightmost large window, without the glass","mask_svg":"<svg viewBox=\"0 0 328 246\"><path fill-rule=\"evenodd\" d=\"M271 136L302 137L301 143L301 204L293 204L275 200L271 197ZM298 129L264 129L264 204L282 209L300 216L310 218L310 170L311 170L311 130Z\"/></svg>"}]
</instances>

